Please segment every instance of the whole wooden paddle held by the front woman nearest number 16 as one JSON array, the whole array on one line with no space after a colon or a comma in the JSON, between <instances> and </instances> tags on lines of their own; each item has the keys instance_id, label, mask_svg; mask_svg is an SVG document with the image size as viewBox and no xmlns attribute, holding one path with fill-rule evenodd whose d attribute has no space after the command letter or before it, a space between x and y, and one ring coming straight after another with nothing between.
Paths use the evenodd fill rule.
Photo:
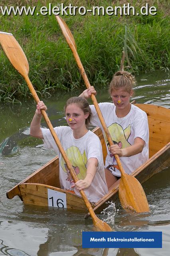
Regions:
<instances>
[{"instance_id":1,"label":"whole wooden paddle held by the front woman nearest number 16","mask_svg":"<svg viewBox=\"0 0 170 256\"><path fill-rule=\"evenodd\" d=\"M11 64L23 76L24 80L26 81L26 83L32 93L32 96L34 97L34 100L38 104L40 99L38 98L38 95L36 94L36 91L35 91L34 87L32 86L32 83L30 82L30 79L28 77L29 64L28 64L26 55L24 54L20 44L16 41L16 39L14 38L14 36L12 34L4 33L4 32L0 32L0 43L2 45L4 52L6 53L6 56L10 60ZM73 166L71 165L71 162L69 161L69 159L59 141L59 138L57 137L57 134L55 133L55 131L53 129L53 126L52 126L45 110L41 110L41 113L47 123L47 126L49 127L49 130L51 131L51 134L52 134L64 160L65 160L65 163L67 164L67 167L70 170L70 173L74 179L74 182L77 182L78 181L77 175L76 175L76 173L73 169ZM91 217L93 219L93 224L97 227L97 229L101 230L101 231L112 231L111 227L106 222L103 222L102 220L97 218L89 200L87 199L87 196L85 195L85 192L83 190L81 190L80 193L81 193L81 196L87 206L87 209L89 210L89 213L91 214Z\"/></svg>"}]
</instances>

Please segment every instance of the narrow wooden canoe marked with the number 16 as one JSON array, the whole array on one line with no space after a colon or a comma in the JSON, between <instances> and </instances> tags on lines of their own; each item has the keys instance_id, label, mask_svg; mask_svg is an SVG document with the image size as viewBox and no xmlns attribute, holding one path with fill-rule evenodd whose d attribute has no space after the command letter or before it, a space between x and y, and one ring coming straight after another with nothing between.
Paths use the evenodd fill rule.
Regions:
<instances>
[{"instance_id":1,"label":"narrow wooden canoe marked with the number 16","mask_svg":"<svg viewBox=\"0 0 170 256\"><path fill-rule=\"evenodd\" d=\"M146 112L150 132L149 159L131 174L140 183L143 183L154 174L170 166L170 109L150 104L136 104L136 106ZM100 138L105 161L107 148L103 133L100 128L95 128L93 132ZM109 193L101 200L92 204L96 213L105 209L108 206L106 204L108 201L114 201L118 198L119 182L120 180L113 184ZM87 212L85 203L80 196L60 188L58 157L53 158L42 168L14 186L6 193L6 196L8 199L19 196L24 204Z\"/></svg>"}]
</instances>

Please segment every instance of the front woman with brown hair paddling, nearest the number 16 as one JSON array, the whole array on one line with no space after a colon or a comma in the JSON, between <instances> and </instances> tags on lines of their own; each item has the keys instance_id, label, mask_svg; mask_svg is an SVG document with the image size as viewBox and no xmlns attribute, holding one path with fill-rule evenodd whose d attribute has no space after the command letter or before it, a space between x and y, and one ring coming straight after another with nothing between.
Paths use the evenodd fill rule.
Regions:
<instances>
[{"instance_id":1,"label":"front woman with brown hair paddling, nearest the number 16","mask_svg":"<svg viewBox=\"0 0 170 256\"><path fill-rule=\"evenodd\" d=\"M80 195L85 190L89 201L97 202L108 192L101 143L97 135L87 129L91 119L91 109L85 98L72 97L65 106L69 126L58 126L54 130L65 150L79 181L73 182L71 174L49 129L40 128L41 109L47 110L40 101L33 117L30 135L43 139L47 148L53 148L59 156L59 180L61 188Z\"/></svg>"}]
</instances>

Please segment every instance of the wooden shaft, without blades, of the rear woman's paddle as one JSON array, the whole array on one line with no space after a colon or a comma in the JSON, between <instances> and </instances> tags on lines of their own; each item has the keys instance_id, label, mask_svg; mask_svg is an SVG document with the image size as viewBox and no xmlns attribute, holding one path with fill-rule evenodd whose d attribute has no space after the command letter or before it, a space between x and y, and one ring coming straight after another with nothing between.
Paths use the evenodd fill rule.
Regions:
<instances>
[{"instance_id":1,"label":"wooden shaft, without blades, of the rear woman's paddle","mask_svg":"<svg viewBox=\"0 0 170 256\"><path fill-rule=\"evenodd\" d=\"M75 58L75 60L76 60L76 62L77 62L77 66L79 67L79 70L80 70L81 76L83 77L83 80L84 80L84 82L85 82L85 85L86 85L87 88L89 88L89 87L91 86L90 83L89 83L89 79L87 78L87 75L86 75L85 70L84 70L84 68L83 68L83 65L82 65L82 63L81 63L81 60L80 60L80 58L79 58L79 55L77 54L77 51L76 51L75 47L73 46L71 40L70 40L69 46L70 46L70 48L71 48L71 51L73 52L74 58ZM110 134L109 129L108 129L106 123L105 123L105 120L104 120L104 118L103 118L103 115L102 115L102 113L101 113L101 110L100 110L100 108L99 108L98 102L97 102L96 97L95 97L94 94L91 94L91 99L92 99L92 101L93 101L93 104L94 104L95 109L96 109L96 111L97 111L97 114L98 114L98 116L99 116L99 120L100 120L100 122L101 122L101 124L102 124L102 126L103 126L103 129L104 129L104 131L105 131L105 134L106 134L106 136L107 136L109 145L112 146L112 145L114 145L114 143L113 143L113 140L112 140L112 138L111 138L111 134ZM125 170L123 169L123 166L122 166L122 164L121 164L121 160L120 160L119 156L118 156L117 154L115 154L114 156L115 156L115 159L116 159L117 164L118 164L118 166L119 166L119 170L121 171L121 174L122 174L122 175L125 174Z\"/></svg>"}]
</instances>

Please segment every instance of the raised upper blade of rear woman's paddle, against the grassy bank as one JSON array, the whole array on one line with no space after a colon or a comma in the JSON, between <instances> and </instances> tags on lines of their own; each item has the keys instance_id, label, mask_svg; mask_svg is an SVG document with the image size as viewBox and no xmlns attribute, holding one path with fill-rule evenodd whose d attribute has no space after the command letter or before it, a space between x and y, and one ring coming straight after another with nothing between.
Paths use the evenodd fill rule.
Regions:
<instances>
[{"instance_id":1,"label":"raised upper blade of rear woman's paddle, against the grassy bank","mask_svg":"<svg viewBox=\"0 0 170 256\"><path fill-rule=\"evenodd\" d=\"M67 44L69 46L70 46L70 44L73 44L73 46L75 47L75 50L77 50L77 46L76 46L75 40L73 38L73 35L71 34L71 31L69 30L69 27L67 26L65 21L60 16L55 16L55 18L63 32L65 39L67 40Z\"/></svg>"}]
</instances>

